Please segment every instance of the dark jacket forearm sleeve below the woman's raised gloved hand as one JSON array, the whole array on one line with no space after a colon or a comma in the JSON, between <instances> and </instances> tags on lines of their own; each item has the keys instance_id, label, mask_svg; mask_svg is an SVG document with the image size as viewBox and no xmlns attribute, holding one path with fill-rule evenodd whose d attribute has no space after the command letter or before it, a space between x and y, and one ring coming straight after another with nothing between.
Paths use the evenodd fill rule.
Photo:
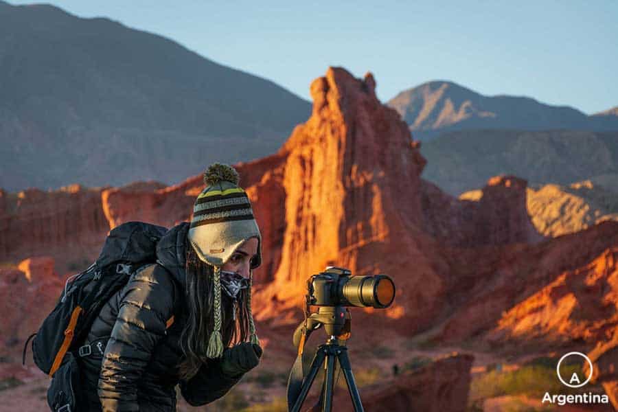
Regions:
<instances>
[{"instance_id":1,"label":"dark jacket forearm sleeve below the woman's raised gloved hand","mask_svg":"<svg viewBox=\"0 0 618 412\"><path fill-rule=\"evenodd\" d=\"M202 365L198 373L188 381L179 382L183 398L192 406L200 407L224 396L242 378L227 376L221 371L221 359Z\"/></svg>"}]
</instances>

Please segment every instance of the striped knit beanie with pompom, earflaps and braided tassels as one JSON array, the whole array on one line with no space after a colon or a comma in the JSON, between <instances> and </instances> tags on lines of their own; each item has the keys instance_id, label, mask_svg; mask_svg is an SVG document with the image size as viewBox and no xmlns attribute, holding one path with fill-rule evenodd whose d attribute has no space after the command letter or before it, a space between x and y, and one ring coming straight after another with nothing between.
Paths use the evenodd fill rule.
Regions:
<instances>
[{"instance_id":1,"label":"striped knit beanie with pompom, earflaps and braided tassels","mask_svg":"<svg viewBox=\"0 0 618 412\"><path fill-rule=\"evenodd\" d=\"M218 358L223 353L221 337L221 267L231 255L249 238L258 238L257 259L251 261L251 269L262 263L262 236L258 223L253 218L249 196L238 187L238 172L229 165L211 164L204 173L206 187L197 196L193 218L187 238L198 258L214 266L214 330L210 335L206 356ZM247 312L251 343L260 344L255 333L251 314L251 284L249 277Z\"/></svg>"}]
</instances>

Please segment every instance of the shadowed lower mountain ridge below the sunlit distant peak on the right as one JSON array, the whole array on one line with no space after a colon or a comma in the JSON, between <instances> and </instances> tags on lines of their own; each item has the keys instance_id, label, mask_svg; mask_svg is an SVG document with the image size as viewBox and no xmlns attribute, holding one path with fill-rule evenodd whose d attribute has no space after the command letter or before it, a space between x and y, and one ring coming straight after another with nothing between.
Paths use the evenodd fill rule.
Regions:
<instances>
[{"instance_id":1,"label":"shadowed lower mountain ridge below the sunlit distant peak on the right","mask_svg":"<svg viewBox=\"0 0 618 412\"><path fill-rule=\"evenodd\" d=\"M618 132L458 130L423 142L421 152L424 179L453 196L497 174L531 185L590 180L618 191Z\"/></svg>"}]
</instances>

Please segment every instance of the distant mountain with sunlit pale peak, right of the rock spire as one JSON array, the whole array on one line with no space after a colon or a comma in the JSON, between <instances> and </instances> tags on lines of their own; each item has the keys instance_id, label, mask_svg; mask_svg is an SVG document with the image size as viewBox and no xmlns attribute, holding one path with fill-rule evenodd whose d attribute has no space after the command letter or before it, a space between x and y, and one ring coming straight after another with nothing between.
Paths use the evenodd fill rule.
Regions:
<instances>
[{"instance_id":1,"label":"distant mountain with sunlit pale peak, right of the rock spire","mask_svg":"<svg viewBox=\"0 0 618 412\"><path fill-rule=\"evenodd\" d=\"M532 98L485 96L459 84L426 82L402 91L387 103L409 124L416 139L468 129L618 130L618 116L588 116L568 106L550 106Z\"/></svg>"}]
</instances>

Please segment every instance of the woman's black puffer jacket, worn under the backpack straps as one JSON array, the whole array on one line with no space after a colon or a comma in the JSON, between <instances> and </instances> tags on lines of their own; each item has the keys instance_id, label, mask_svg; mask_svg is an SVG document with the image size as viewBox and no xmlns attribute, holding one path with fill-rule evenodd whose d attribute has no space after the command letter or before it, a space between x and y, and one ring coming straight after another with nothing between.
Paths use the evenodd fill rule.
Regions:
<instances>
[{"instance_id":1,"label":"woman's black puffer jacket, worn under the backpack straps","mask_svg":"<svg viewBox=\"0 0 618 412\"><path fill-rule=\"evenodd\" d=\"M179 380L179 336L185 323L185 238L188 223L157 244L157 264L135 273L95 319L80 358L89 411L176 411L176 384L193 406L225 395L240 376L222 374L220 361ZM174 322L167 328L168 320Z\"/></svg>"}]
</instances>

